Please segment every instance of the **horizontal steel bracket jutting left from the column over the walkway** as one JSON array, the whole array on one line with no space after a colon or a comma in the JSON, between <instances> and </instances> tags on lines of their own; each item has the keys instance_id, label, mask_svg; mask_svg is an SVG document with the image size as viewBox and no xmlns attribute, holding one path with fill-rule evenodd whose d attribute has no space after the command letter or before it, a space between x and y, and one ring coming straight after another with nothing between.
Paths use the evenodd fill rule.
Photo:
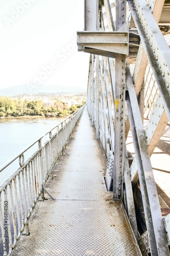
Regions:
<instances>
[{"instance_id":1,"label":"horizontal steel bracket jutting left from the column over the walkway","mask_svg":"<svg viewBox=\"0 0 170 256\"><path fill-rule=\"evenodd\" d=\"M114 57L114 53L128 56L129 33L105 31L78 31L78 51Z\"/></svg>"}]
</instances>

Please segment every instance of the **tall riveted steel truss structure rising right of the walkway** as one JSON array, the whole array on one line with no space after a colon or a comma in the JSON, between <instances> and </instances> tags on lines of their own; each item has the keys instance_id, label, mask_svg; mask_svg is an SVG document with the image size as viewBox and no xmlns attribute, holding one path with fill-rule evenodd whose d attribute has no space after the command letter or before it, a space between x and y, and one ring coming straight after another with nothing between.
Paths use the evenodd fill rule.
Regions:
<instances>
[{"instance_id":1,"label":"tall riveted steel truss structure rising right of the walkway","mask_svg":"<svg viewBox=\"0 0 170 256\"><path fill-rule=\"evenodd\" d=\"M87 108L107 156L107 189L123 201L136 238L144 218L139 237L148 237L151 255L169 255L150 160L170 120L169 4L85 0L84 31L77 32L78 50L90 53Z\"/></svg>"}]
</instances>

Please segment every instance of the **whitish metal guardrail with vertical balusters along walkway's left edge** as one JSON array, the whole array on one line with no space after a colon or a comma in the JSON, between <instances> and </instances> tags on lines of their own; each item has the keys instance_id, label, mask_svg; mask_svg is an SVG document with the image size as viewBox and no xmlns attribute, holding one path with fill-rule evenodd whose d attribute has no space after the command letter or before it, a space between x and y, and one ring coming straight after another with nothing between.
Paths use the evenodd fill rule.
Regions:
<instances>
[{"instance_id":1,"label":"whitish metal guardrail with vertical balusters along walkway's left edge","mask_svg":"<svg viewBox=\"0 0 170 256\"><path fill-rule=\"evenodd\" d=\"M0 173L3 170L5 172L6 168L12 165L14 161L19 161L20 167L0 187L1 255L11 255L21 234L29 233L28 221L42 193L43 185L52 174L53 167L83 109L84 106L0 169ZM43 143L42 141L47 135L49 139ZM25 153L35 145L38 146L36 152L25 161Z\"/></svg>"}]
</instances>

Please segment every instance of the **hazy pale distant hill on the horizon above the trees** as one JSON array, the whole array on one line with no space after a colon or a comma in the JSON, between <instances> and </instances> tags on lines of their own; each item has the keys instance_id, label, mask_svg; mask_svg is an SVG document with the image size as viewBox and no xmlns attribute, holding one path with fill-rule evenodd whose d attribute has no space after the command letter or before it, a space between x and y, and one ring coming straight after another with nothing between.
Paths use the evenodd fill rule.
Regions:
<instances>
[{"instance_id":1,"label":"hazy pale distant hill on the horizon above the trees","mask_svg":"<svg viewBox=\"0 0 170 256\"><path fill-rule=\"evenodd\" d=\"M63 87L59 85L44 86L43 84L26 83L21 86L13 86L0 89L0 96L17 96L17 95L33 95L33 94L78 94L85 92L86 89L78 87Z\"/></svg>"}]
</instances>

